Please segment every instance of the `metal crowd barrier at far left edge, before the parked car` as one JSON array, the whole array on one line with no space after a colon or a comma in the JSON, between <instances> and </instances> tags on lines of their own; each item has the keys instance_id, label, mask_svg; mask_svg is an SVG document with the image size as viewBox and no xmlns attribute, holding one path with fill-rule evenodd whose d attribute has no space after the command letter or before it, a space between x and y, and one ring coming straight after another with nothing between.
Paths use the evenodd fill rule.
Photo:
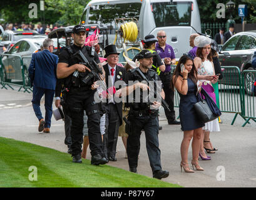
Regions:
<instances>
[{"instance_id":1,"label":"metal crowd barrier at far left edge, before the parked car","mask_svg":"<svg viewBox=\"0 0 256 200\"><path fill-rule=\"evenodd\" d=\"M25 61L24 59L27 59ZM1 54L1 85L2 88L13 89L12 86L20 86L19 91L24 89L24 93L30 93L30 81L28 76L28 67L31 57L24 57L12 54ZM25 64L23 64L23 61ZM28 64L29 63L29 64Z\"/></svg>"}]
</instances>

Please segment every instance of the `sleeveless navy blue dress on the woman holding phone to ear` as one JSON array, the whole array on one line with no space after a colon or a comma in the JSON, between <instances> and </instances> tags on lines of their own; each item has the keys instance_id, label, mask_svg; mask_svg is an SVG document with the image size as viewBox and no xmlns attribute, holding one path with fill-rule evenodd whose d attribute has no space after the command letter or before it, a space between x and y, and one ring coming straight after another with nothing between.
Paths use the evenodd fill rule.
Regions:
<instances>
[{"instance_id":1,"label":"sleeveless navy blue dress on the woman holding phone to ear","mask_svg":"<svg viewBox=\"0 0 256 200\"><path fill-rule=\"evenodd\" d=\"M188 78L188 93L187 95L180 95L180 123L182 124L182 131L190 131L201 128L205 124L197 118L197 113L194 109L194 104L200 101L197 98L197 85Z\"/></svg>"}]
</instances>

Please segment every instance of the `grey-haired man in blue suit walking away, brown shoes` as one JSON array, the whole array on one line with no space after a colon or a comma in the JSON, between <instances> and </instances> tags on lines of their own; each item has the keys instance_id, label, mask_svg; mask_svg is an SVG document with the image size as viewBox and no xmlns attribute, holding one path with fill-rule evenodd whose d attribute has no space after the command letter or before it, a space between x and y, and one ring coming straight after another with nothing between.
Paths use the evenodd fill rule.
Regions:
<instances>
[{"instance_id":1,"label":"grey-haired man in blue suit walking away, brown shoes","mask_svg":"<svg viewBox=\"0 0 256 200\"><path fill-rule=\"evenodd\" d=\"M58 56L52 54L54 49L52 39L45 39L43 48L43 51L32 55L28 71L31 87L33 86L32 105L34 113L39 120L38 131L50 133ZM45 121L40 110L40 101L44 94Z\"/></svg>"}]
</instances>

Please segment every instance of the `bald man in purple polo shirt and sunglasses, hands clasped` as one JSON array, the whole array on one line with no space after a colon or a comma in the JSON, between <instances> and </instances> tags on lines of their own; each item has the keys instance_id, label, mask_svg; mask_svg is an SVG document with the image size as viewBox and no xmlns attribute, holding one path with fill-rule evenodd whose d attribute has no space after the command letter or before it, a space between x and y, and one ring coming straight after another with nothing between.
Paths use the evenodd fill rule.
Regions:
<instances>
[{"instance_id":1,"label":"bald man in purple polo shirt and sunglasses, hands clasped","mask_svg":"<svg viewBox=\"0 0 256 200\"><path fill-rule=\"evenodd\" d=\"M165 109L165 116L168 120L168 124L180 124L175 119L174 111L174 91L170 88L171 84L171 65L176 63L175 53L173 47L166 44L166 33L165 31L158 31L157 33L158 42L156 43L155 51L159 54L160 58L165 63L165 71L160 73L160 79L163 83L163 91L165 91L165 101L168 103L171 111Z\"/></svg>"}]
</instances>

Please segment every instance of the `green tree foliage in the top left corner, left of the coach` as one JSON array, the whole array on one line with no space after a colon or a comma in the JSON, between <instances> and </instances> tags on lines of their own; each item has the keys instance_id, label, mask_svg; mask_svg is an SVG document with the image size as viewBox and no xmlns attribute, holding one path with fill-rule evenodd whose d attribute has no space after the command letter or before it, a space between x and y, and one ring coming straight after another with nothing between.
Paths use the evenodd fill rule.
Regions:
<instances>
[{"instance_id":1,"label":"green tree foliage in the top left corner, left of the coach","mask_svg":"<svg viewBox=\"0 0 256 200\"><path fill-rule=\"evenodd\" d=\"M45 22L61 25L78 24L83 14L83 9L90 0L45 0L44 11L40 11L39 0L8 0L0 4L0 14L5 22ZM29 4L36 3L38 17L29 18ZM44 21L43 21L44 19Z\"/></svg>"}]
</instances>

